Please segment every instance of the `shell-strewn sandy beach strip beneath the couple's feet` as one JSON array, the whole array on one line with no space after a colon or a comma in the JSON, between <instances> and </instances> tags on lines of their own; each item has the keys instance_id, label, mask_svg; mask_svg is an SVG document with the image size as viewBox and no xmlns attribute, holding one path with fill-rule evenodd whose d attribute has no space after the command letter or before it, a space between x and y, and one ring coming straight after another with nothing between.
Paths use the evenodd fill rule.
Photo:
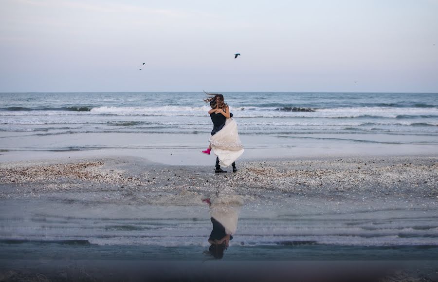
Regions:
<instances>
[{"instance_id":1,"label":"shell-strewn sandy beach strip beneath the couple's feet","mask_svg":"<svg viewBox=\"0 0 438 282\"><path fill-rule=\"evenodd\" d=\"M63 163L3 163L0 165L0 197L39 197L55 192L102 192L105 189L139 193L136 195L138 203L151 201L151 204L154 199L146 196L153 192L209 195L217 190L256 197L273 191L279 197L348 198L347 193L357 193L430 203L438 200L437 156L260 160L239 163L237 173L213 172L212 166L169 166L121 157Z\"/></svg>"}]
</instances>

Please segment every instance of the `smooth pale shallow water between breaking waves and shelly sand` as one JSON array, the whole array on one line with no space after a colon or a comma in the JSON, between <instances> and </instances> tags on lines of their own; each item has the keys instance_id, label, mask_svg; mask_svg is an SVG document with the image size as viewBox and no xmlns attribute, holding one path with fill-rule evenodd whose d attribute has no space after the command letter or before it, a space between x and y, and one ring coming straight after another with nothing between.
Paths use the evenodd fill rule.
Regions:
<instances>
[{"instance_id":1,"label":"smooth pale shallow water between breaking waves and shelly sand","mask_svg":"<svg viewBox=\"0 0 438 282\"><path fill-rule=\"evenodd\" d=\"M0 162L46 159L96 159L120 156L141 157L165 165L202 165L215 163L215 156L201 153L208 145L208 134L155 133L74 133L45 136L8 136L0 132ZM384 136L379 134L241 135L245 152L238 161L288 160L294 158L438 155L433 136ZM402 138L402 139L399 139ZM375 142L375 141L379 142ZM418 140L417 140L418 141ZM407 142L407 143L404 143ZM432 142L432 143L431 143ZM29 144L32 144L29 147ZM48 145L50 144L50 145ZM56 144L56 145L54 145ZM402 153L401 153L402 152Z\"/></svg>"}]
</instances>

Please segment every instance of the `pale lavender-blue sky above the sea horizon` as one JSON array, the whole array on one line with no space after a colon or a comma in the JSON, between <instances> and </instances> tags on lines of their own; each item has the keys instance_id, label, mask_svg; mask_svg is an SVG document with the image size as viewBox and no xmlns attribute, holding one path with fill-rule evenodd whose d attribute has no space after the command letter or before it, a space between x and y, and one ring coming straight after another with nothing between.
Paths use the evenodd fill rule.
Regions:
<instances>
[{"instance_id":1,"label":"pale lavender-blue sky above the sea horizon","mask_svg":"<svg viewBox=\"0 0 438 282\"><path fill-rule=\"evenodd\" d=\"M202 90L438 93L438 0L0 0L0 92Z\"/></svg>"}]
</instances>

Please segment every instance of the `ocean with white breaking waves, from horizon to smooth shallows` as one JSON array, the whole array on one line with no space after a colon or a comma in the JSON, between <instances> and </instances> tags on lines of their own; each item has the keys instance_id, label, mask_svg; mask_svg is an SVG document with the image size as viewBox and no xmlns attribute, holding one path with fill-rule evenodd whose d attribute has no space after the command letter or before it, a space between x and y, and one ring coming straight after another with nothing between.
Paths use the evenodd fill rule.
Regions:
<instances>
[{"instance_id":1,"label":"ocean with white breaking waves, from horizon to smooth shallows","mask_svg":"<svg viewBox=\"0 0 438 282\"><path fill-rule=\"evenodd\" d=\"M438 134L438 94L223 93L240 134ZM2 93L0 131L208 133L202 92ZM314 112L293 112L306 108ZM339 135L341 134L341 135ZM371 138L372 139L372 138ZM436 141L436 139L435 139Z\"/></svg>"}]
</instances>

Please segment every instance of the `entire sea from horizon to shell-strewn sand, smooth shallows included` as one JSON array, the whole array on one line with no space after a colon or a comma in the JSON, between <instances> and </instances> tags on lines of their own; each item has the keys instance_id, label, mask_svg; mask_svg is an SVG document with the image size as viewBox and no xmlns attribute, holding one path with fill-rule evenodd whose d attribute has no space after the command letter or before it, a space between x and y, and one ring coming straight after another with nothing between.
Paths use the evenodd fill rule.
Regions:
<instances>
[{"instance_id":1,"label":"entire sea from horizon to shell-strewn sand, smooth shallows included","mask_svg":"<svg viewBox=\"0 0 438 282\"><path fill-rule=\"evenodd\" d=\"M223 94L245 148L242 160L438 151L438 94ZM206 96L1 93L0 157L25 161L72 152L211 165L214 160L199 153L212 129Z\"/></svg>"}]
</instances>

